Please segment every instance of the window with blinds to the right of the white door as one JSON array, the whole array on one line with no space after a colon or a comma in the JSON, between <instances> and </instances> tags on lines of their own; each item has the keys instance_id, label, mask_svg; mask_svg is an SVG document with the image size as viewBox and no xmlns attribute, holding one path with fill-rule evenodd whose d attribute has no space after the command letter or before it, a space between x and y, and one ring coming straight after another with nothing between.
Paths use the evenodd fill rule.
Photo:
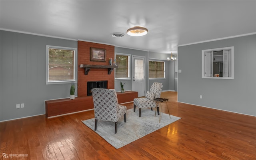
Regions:
<instances>
[{"instance_id":1,"label":"window with blinds to the right of the white door","mask_svg":"<svg viewBox=\"0 0 256 160\"><path fill-rule=\"evenodd\" d=\"M165 63L149 61L149 78L165 78Z\"/></svg>"}]
</instances>

